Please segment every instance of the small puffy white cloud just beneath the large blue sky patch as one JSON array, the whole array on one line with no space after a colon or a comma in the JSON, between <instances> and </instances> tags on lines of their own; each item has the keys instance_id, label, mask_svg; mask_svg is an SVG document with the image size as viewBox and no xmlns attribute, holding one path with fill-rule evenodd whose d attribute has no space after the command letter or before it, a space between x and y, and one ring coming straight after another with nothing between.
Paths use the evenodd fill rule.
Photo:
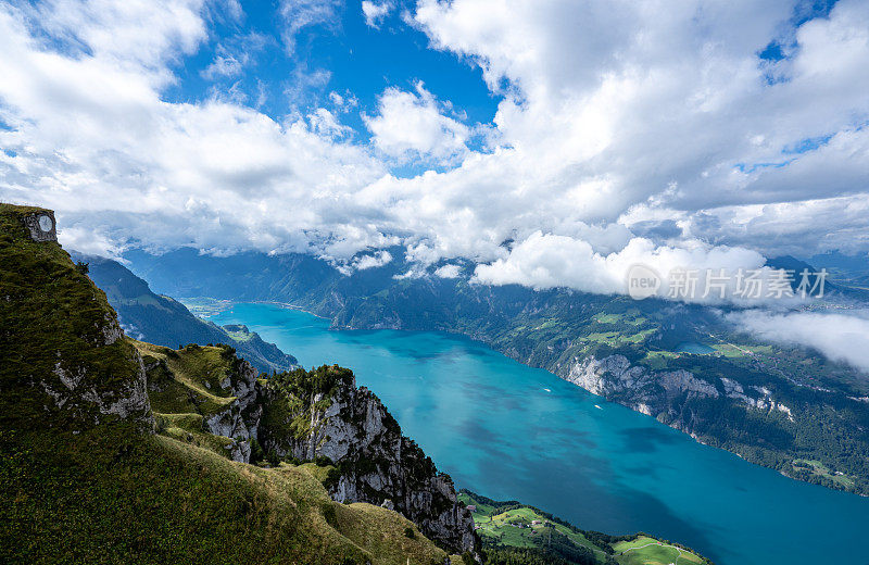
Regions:
<instances>
[{"instance_id":1,"label":"small puffy white cloud just beneath the large blue sky patch","mask_svg":"<svg viewBox=\"0 0 869 565\"><path fill-rule=\"evenodd\" d=\"M388 88L378 100L377 115L364 116L375 147L399 159L444 161L464 154L468 126L444 115L423 83L415 90Z\"/></svg>"}]
</instances>

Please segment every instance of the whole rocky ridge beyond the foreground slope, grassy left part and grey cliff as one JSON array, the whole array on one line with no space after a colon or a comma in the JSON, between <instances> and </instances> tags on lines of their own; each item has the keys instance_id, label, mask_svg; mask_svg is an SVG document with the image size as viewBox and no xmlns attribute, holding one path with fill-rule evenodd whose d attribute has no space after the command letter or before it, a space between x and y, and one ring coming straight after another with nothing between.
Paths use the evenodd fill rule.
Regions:
<instances>
[{"instance_id":1,"label":"whole rocky ridge beyond the foreground slope, grassy left part and grey cliff","mask_svg":"<svg viewBox=\"0 0 869 565\"><path fill-rule=\"evenodd\" d=\"M401 435L349 369L323 366L257 380L225 346L137 347L164 431L243 463L257 449L274 464L317 462L328 466L324 485L333 500L395 510L448 550L477 551L474 522L449 475Z\"/></svg>"}]
</instances>

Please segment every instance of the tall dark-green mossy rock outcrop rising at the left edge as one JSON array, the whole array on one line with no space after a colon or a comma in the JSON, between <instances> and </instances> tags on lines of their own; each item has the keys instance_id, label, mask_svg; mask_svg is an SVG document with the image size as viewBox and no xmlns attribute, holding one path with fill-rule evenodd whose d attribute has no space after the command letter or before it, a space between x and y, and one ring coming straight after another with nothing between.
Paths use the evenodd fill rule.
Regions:
<instances>
[{"instance_id":1,"label":"tall dark-green mossy rock outcrop rising at the left edge","mask_svg":"<svg viewBox=\"0 0 869 565\"><path fill-rule=\"evenodd\" d=\"M49 214L0 204L0 418L15 427L115 422L148 430L142 363L105 294L56 241L32 235L33 218Z\"/></svg>"}]
</instances>

